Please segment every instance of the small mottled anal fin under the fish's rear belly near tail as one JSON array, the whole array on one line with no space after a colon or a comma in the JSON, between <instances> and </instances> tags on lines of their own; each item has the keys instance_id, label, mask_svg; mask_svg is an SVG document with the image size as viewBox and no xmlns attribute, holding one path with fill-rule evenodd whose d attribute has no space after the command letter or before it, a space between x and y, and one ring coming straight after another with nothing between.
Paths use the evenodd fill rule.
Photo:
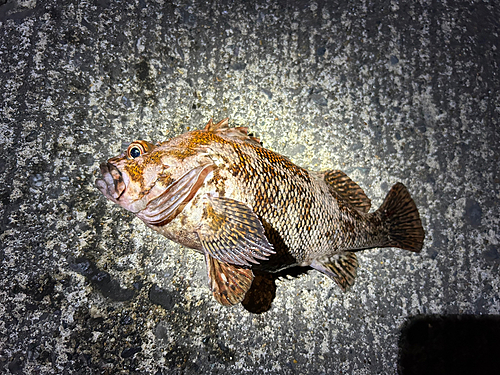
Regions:
<instances>
[{"instance_id":1,"label":"small mottled anal fin under the fish's rear belly near tail","mask_svg":"<svg viewBox=\"0 0 500 375\"><path fill-rule=\"evenodd\" d=\"M315 259L310 266L334 280L345 292L354 285L358 259L356 254L344 252L328 258Z\"/></svg>"}]
</instances>

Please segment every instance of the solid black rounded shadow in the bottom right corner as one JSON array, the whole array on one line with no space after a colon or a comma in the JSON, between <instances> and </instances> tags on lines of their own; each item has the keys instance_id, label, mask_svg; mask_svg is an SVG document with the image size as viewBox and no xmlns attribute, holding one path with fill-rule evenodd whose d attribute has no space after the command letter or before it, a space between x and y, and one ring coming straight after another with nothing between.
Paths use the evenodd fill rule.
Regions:
<instances>
[{"instance_id":1,"label":"solid black rounded shadow in the bottom right corner","mask_svg":"<svg viewBox=\"0 0 500 375\"><path fill-rule=\"evenodd\" d=\"M410 318L401 329L399 373L500 373L500 316Z\"/></svg>"}]
</instances>

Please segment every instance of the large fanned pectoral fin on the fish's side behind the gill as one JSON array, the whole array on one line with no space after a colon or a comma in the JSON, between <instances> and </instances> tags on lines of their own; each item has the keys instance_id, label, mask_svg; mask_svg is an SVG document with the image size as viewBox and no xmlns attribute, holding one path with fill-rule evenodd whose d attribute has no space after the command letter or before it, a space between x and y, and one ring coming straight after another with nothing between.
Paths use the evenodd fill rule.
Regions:
<instances>
[{"instance_id":1,"label":"large fanned pectoral fin on the fish's side behind the gill","mask_svg":"<svg viewBox=\"0 0 500 375\"><path fill-rule=\"evenodd\" d=\"M257 215L233 199L208 198L198 236L205 253L223 263L250 266L274 254Z\"/></svg>"}]
</instances>

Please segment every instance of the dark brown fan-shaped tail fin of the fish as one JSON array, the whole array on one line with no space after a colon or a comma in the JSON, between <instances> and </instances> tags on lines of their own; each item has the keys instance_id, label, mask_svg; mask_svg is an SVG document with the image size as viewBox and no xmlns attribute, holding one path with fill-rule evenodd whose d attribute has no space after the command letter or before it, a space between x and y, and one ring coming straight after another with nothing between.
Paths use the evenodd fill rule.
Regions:
<instances>
[{"instance_id":1,"label":"dark brown fan-shaped tail fin of the fish","mask_svg":"<svg viewBox=\"0 0 500 375\"><path fill-rule=\"evenodd\" d=\"M406 187L398 182L377 210L389 230L387 247L419 252L424 243L424 229L417 206Z\"/></svg>"}]
</instances>

